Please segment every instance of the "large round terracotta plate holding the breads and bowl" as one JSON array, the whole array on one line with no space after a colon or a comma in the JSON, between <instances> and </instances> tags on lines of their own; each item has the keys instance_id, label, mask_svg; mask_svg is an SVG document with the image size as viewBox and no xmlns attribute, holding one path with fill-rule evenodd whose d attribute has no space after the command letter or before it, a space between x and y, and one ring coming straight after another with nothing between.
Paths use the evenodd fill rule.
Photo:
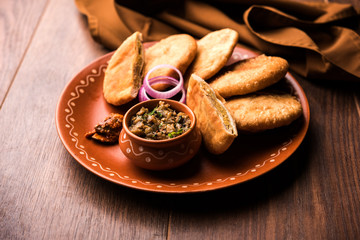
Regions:
<instances>
[{"instance_id":1,"label":"large round terracotta plate holding the breads and bowl","mask_svg":"<svg viewBox=\"0 0 360 240\"><path fill-rule=\"evenodd\" d=\"M169 171L149 171L134 166L118 145L103 145L84 134L111 112L125 113L126 106L107 104L102 83L112 53L85 67L65 87L56 111L56 126L66 149L86 169L111 182L153 192L186 193L220 189L258 177L284 162L300 145L309 125L309 106L299 83L287 74L274 86L296 95L303 115L290 126L255 135L239 135L230 149L214 156L201 147L186 165ZM233 60L255 56L236 48Z\"/></svg>"}]
</instances>

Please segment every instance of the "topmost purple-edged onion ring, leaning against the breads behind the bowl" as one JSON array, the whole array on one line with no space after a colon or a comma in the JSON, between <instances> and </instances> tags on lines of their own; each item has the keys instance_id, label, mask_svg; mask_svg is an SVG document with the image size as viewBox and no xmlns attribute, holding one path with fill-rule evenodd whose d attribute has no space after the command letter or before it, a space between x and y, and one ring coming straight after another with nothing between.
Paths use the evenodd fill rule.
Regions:
<instances>
[{"instance_id":1,"label":"topmost purple-edged onion ring, leaning against the breads behind the bowl","mask_svg":"<svg viewBox=\"0 0 360 240\"><path fill-rule=\"evenodd\" d=\"M155 71L159 68L171 68L175 72L177 72L177 74L179 75L179 81L178 81L177 85L173 85L173 86L175 86L174 88L172 88L168 91L157 91L151 87L151 84L149 83L149 76L153 71ZM165 76L160 76L160 77L164 78ZM152 79L155 79L155 78L152 78ZM170 77L166 77L166 78L170 78ZM172 79L174 79L174 78L172 78ZM160 64L160 65L157 65L157 66L153 67L152 69L150 69L150 71L146 74L146 76L144 78L144 82L143 82L143 87L145 88L146 92L153 98L171 98L171 97L175 96L178 92L181 91L181 89L183 88L183 85L184 85L184 79L183 79L181 72L177 68L175 68L174 66L169 65L169 64Z\"/></svg>"}]
</instances>

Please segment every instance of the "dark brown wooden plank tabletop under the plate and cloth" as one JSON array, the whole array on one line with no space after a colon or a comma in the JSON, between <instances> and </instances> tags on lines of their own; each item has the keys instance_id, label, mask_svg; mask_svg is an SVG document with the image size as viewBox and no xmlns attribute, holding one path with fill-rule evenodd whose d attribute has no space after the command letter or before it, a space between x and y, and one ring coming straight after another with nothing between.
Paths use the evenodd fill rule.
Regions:
<instances>
[{"instance_id":1,"label":"dark brown wooden plank tabletop under the plate and cloth","mask_svg":"<svg viewBox=\"0 0 360 240\"><path fill-rule=\"evenodd\" d=\"M63 88L108 52L74 2L0 10L0 239L359 239L359 84L296 76L309 131L259 178L201 194L134 190L83 168L56 131Z\"/></svg>"}]
</instances>

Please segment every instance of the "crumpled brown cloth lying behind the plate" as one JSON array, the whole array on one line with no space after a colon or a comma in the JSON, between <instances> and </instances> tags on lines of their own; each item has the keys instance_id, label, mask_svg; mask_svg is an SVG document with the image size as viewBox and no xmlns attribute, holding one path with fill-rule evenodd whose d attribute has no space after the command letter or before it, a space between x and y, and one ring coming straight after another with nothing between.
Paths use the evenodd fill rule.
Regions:
<instances>
[{"instance_id":1,"label":"crumpled brown cloth lying behind the plate","mask_svg":"<svg viewBox=\"0 0 360 240\"><path fill-rule=\"evenodd\" d=\"M144 41L177 33L201 38L232 28L239 43L281 56L306 78L360 82L359 12L349 4L289 0L75 0L93 38L117 48L135 31Z\"/></svg>"}]
</instances>

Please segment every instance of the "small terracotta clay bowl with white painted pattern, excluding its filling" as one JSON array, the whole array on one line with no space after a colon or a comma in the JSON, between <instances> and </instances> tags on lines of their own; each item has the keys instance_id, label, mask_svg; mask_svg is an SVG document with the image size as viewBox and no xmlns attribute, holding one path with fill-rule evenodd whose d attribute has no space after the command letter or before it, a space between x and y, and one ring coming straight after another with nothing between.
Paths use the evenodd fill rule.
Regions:
<instances>
[{"instance_id":1,"label":"small terracotta clay bowl with white painted pattern, excluding its filling","mask_svg":"<svg viewBox=\"0 0 360 240\"><path fill-rule=\"evenodd\" d=\"M160 100L168 103L170 108L177 112L186 113L191 120L190 129L177 137L164 140L149 140L130 132L131 117L141 107L154 109ZM167 170L193 158L200 148L201 139L201 133L196 128L195 114L187 105L169 99L152 99L134 105L125 113L119 145L123 154L136 166L149 170Z\"/></svg>"}]
</instances>

